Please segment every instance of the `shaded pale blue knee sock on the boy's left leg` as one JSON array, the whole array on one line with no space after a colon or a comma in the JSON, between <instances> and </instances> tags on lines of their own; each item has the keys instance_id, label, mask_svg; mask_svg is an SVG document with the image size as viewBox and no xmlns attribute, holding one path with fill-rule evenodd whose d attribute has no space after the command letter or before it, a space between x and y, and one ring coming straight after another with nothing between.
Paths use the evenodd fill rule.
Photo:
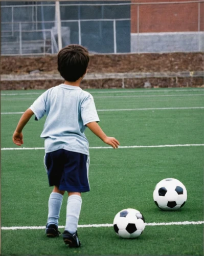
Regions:
<instances>
[{"instance_id":1,"label":"shaded pale blue knee sock on the boy's left leg","mask_svg":"<svg viewBox=\"0 0 204 256\"><path fill-rule=\"evenodd\" d=\"M58 226L59 213L62 205L63 196L59 193L52 192L48 202L48 222Z\"/></svg>"}]
</instances>

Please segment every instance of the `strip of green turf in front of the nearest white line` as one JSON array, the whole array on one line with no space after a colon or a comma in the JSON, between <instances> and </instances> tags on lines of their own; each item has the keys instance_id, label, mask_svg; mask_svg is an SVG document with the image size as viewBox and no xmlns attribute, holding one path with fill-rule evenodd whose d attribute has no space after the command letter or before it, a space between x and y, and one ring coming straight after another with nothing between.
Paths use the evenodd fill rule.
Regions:
<instances>
[{"instance_id":1,"label":"strip of green turf in front of the nearest white line","mask_svg":"<svg viewBox=\"0 0 204 256\"><path fill-rule=\"evenodd\" d=\"M82 246L69 248L61 237L47 238L44 230L3 230L2 244L15 255L202 255L202 231L201 225L147 226L138 239L127 240L112 227L79 228Z\"/></svg>"}]
</instances>

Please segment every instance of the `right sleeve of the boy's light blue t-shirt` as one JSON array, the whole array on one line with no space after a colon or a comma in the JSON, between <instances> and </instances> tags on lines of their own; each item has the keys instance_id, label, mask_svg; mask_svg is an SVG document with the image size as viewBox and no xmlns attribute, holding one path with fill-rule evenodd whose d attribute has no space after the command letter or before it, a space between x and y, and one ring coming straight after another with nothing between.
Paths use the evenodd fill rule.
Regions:
<instances>
[{"instance_id":1,"label":"right sleeve of the boy's light blue t-shirt","mask_svg":"<svg viewBox=\"0 0 204 256\"><path fill-rule=\"evenodd\" d=\"M92 95L88 95L88 97L81 104L81 118L83 120L83 125L90 122L100 121Z\"/></svg>"}]
</instances>

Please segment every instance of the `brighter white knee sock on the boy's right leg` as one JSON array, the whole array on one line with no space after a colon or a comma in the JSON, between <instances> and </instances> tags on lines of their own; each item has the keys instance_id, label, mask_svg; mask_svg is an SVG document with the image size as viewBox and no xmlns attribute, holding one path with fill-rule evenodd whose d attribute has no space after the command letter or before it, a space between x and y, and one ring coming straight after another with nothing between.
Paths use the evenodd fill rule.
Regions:
<instances>
[{"instance_id":1,"label":"brighter white knee sock on the boy's right leg","mask_svg":"<svg viewBox=\"0 0 204 256\"><path fill-rule=\"evenodd\" d=\"M72 195L67 200L65 230L71 234L77 231L82 199L78 195Z\"/></svg>"}]
</instances>

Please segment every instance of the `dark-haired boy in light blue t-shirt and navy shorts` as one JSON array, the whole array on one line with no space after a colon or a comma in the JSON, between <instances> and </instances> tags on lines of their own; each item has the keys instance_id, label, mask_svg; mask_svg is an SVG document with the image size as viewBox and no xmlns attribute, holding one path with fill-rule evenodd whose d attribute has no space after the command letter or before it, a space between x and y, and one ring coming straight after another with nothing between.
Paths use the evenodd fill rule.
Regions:
<instances>
[{"instance_id":1,"label":"dark-haired boy in light blue t-shirt and navy shorts","mask_svg":"<svg viewBox=\"0 0 204 256\"><path fill-rule=\"evenodd\" d=\"M13 134L13 142L23 144L22 129L32 115L39 120L47 115L41 138L44 138L46 155L44 166L49 185L54 189L49 198L47 237L57 237L58 220L62 199L68 193L66 223L62 234L70 247L81 245L77 225L81 210L81 193L89 191L88 141L84 135L86 126L103 142L117 148L119 141L107 137L97 122L93 96L80 88L80 82L87 72L88 51L80 45L69 45L59 51L58 71L64 83L53 87L39 96L21 116Z\"/></svg>"}]
</instances>

